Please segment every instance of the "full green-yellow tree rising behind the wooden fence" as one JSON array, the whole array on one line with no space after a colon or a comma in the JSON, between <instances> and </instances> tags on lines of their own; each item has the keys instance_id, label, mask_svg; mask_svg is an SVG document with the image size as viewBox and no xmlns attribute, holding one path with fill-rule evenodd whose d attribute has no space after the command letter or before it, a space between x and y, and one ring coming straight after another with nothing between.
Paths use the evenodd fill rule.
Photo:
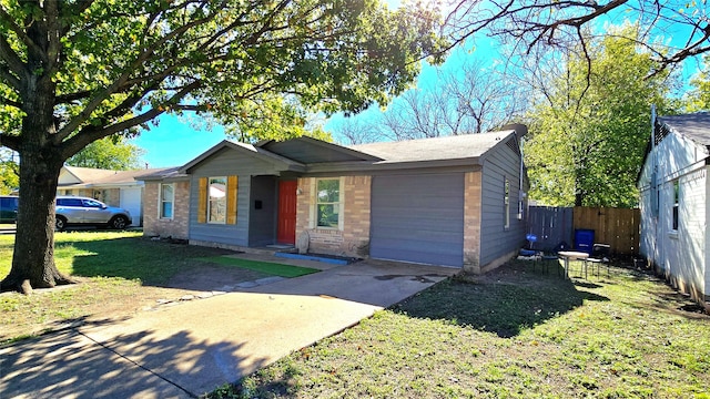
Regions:
<instances>
[{"instance_id":1,"label":"full green-yellow tree rising behind the wooden fence","mask_svg":"<svg viewBox=\"0 0 710 399\"><path fill-rule=\"evenodd\" d=\"M526 165L530 198L547 205L631 207L650 132L650 104L669 114L678 104L668 72L620 34L595 41L591 64L572 53L528 117ZM590 70L588 70L590 68ZM588 72L590 72L588 74Z\"/></svg>"}]
</instances>

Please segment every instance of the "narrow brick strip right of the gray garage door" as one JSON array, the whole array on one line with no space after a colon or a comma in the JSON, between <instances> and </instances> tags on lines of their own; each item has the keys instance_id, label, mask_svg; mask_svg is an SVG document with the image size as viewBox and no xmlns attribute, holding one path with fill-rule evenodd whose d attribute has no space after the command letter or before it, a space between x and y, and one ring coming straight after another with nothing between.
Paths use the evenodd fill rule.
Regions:
<instances>
[{"instance_id":1,"label":"narrow brick strip right of the gray garage door","mask_svg":"<svg viewBox=\"0 0 710 399\"><path fill-rule=\"evenodd\" d=\"M464 270L480 273L481 172L468 172L464 185Z\"/></svg>"}]
</instances>

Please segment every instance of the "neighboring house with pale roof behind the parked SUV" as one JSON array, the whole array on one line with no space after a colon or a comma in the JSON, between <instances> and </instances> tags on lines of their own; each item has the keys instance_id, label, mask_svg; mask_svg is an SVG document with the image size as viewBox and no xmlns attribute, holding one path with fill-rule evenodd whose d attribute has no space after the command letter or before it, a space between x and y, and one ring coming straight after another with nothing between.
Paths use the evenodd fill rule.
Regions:
<instances>
[{"instance_id":1,"label":"neighboring house with pale roof behind the parked SUV","mask_svg":"<svg viewBox=\"0 0 710 399\"><path fill-rule=\"evenodd\" d=\"M133 225L138 226L143 219L143 182L140 178L161 171L163 168L109 171L62 166L57 194L91 197L122 207L131 213Z\"/></svg>"}]
</instances>

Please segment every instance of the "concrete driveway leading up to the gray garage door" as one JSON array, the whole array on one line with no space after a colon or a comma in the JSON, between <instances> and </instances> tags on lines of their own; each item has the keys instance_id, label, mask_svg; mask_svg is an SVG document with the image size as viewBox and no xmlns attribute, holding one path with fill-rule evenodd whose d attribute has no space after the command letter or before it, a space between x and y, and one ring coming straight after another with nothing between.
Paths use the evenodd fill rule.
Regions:
<instances>
[{"instance_id":1,"label":"concrete driveway leading up to the gray garage door","mask_svg":"<svg viewBox=\"0 0 710 399\"><path fill-rule=\"evenodd\" d=\"M191 398L458 269L357 263L0 349L0 398Z\"/></svg>"}]
</instances>

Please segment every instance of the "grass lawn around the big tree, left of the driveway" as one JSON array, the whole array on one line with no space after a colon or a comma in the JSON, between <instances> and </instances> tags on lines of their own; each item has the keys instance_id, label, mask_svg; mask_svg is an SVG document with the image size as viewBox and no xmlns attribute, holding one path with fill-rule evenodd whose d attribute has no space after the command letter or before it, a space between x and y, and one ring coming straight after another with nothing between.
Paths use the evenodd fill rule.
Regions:
<instances>
[{"instance_id":1,"label":"grass lawn around the big tree, left of the driveway","mask_svg":"<svg viewBox=\"0 0 710 399\"><path fill-rule=\"evenodd\" d=\"M13 243L14 235L0 235L0 278L10 272ZM141 232L57 233L54 248L57 267L80 284L38 289L29 296L0 294L0 345L68 321L120 319L159 301L196 295L204 289L193 286L191 279L210 270L225 269L234 280L270 276L200 260L232 252L154 242ZM184 274L189 275L186 283L172 284Z\"/></svg>"}]
</instances>

